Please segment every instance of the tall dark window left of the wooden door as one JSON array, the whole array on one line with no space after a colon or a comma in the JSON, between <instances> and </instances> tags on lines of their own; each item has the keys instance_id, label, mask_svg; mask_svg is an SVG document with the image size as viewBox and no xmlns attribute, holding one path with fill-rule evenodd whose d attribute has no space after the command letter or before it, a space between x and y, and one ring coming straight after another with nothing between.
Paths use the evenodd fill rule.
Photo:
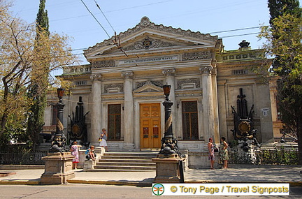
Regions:
<instances>
[{"instance_id":1,"label":"tall dark window left of the wooden door","mask_svg":"<svg viewBox=\"0 0 302 199\"><path fill-rule=\"evenodd\" d=\"M108 105L108 140L120 140L121 105Z\"/></svg>"}]
</instances>

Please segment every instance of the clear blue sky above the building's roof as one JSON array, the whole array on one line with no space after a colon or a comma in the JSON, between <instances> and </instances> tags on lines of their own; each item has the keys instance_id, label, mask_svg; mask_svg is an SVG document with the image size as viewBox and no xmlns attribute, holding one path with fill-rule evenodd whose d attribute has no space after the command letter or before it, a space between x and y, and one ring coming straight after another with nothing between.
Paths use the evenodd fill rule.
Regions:
<instances>
[{"instance_id":1,"label":"clear blue sky above the building's roof","mask_svg":"<svg viewBox=\"0 0 302 199\"><path fill-rule=\"evenodd\" d=\"M36 20L39 0L13 0L13 3L11 10L15 16L28 23ZM222 38L225 50L238 49L241 40L249 41L252 49L257 49L263 41L259 41L257 34L254 34L259 32L259 28L253 27L268 25L269 20L267 0L46 0L46 9L50 31L71 36L74 54L81 54L82 49L108 39L108 35L113 36L114 31L119 34L135 27L143 16L166 27L217 35ZM245 30L231 31L234 29ZM225 32L217 33L218 31ZM238 36L243 34L248 35ZM84 57L81 59L82 64L87 64Z\"/></svg>"}]
</instances>

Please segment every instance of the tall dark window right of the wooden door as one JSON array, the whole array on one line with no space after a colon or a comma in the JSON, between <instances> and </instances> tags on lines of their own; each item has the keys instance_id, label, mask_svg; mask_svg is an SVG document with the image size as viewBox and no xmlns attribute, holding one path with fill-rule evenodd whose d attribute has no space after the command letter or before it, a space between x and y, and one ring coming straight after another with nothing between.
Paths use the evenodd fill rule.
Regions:
<instances>
[{"instance_id":1,"label":"tall dark window right of the wooden door","mask_svg":"<svg viewBox=\"0 0 302 199\"><path fill-rule=\"evenodd\" d=\"M182 138L199 139L197 101L182 102Z\"/></svg>"}]
</instances>

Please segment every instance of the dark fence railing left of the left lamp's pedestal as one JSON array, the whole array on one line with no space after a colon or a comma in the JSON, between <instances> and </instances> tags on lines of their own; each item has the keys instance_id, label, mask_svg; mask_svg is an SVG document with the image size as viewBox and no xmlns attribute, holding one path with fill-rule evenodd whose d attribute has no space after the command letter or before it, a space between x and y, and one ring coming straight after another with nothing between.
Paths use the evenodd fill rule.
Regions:
<instances>
[{"instance_id":1,"label":"dark fence railing left of the left lamp's pedestal","mask_svg":"<svg viewBox=\"0 0 302 199\"><path fill-rule=\"evenodd\" d=\"M15 165L44 165L43 156L47 156L48 152L0 152L0 164Z\"/></svg>"}]
</instances>

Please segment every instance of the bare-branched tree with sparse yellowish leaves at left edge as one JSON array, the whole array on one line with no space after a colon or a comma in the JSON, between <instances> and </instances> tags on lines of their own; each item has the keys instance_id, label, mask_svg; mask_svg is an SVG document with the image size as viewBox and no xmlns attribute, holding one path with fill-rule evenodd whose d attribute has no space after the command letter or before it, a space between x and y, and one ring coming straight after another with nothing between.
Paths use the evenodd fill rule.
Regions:
<instances>
[{"instance_id":1,"label":"bare-branched tree with sparse yellowish leaves at left edge","mask_svg":"<svg viewBox=\"0 0 302 199\"><path fill-rule=\"evenodd\" d=\"M8 137L3 135L11 132L11 126L17 126L15 122L20 121L24 126L32 103L27 87L31 82L38 82L39 71L46 70L49 74L76 61L68 44L69 37L45 35L36 29L36 24L12 17L8 8L6 1L0 1L0 138L3 139ZM47 69L43 67L45 64L49 64ZM48 89L51 87L43 88Z\"/></svg>"}]
</instances>

